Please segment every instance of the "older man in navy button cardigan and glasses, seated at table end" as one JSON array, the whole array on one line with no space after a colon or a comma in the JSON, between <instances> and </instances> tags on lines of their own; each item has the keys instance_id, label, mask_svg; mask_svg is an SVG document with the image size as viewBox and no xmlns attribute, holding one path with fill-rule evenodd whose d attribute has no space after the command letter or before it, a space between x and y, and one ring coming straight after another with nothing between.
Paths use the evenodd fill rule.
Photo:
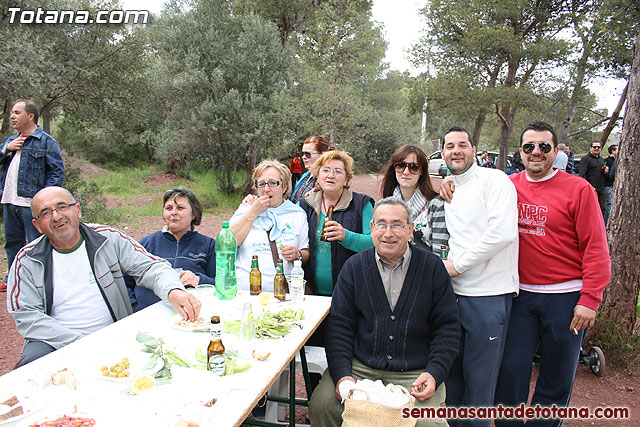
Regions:
<instances>
[{"instance_id":1,"label":"older man in navy button cardigan and glasses, seated at table end","mask_svg":"<svg viewBox=\"0 0 640 427\"><path fill-rule=\"evenodd\" d=\"M311 397L312 425L342 424L342 402L356 380L402 385L418 408L444 402L442 382L458 352L458 310L438 257L409 244L410 216L400 198L378 201L374 247L353 255L340 271L325 335L329 369ZM446 422L423 418L417 425Z\"/></svg>"}]
</instances>

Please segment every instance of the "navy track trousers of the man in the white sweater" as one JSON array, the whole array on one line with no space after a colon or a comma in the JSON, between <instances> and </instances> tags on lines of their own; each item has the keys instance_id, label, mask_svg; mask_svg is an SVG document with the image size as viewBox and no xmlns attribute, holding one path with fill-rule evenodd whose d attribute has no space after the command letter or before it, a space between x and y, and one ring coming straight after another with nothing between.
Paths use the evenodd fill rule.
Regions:
<instances>
[{"instance_id":1,"label":"navy track trousers of the man in the white sweater","mask_svg":"<svg viewBox=\"0 0 640 427\"><path fill-rule=\"evenodd\" d=\"M460 352L445 380L447 406L493 406L513 295L456 295L456 299L460 310ZM481 419L448 421L451 427L491 424L491 420Z\"/></svg>"}]
</instances>

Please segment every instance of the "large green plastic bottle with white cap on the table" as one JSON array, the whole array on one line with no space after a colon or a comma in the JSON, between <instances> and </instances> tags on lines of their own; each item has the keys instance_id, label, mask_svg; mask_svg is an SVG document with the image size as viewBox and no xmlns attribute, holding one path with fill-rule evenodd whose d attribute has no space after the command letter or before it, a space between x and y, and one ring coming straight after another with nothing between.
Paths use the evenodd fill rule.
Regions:
<instances>
[{"instance_id":1,"label":"large green plastic bottle with white cap on the table","mask_svg":"<svg viewBox=\"0 0 640 427\"><path fill-rule=\"evenodd\" d=\"M224 221L216 237L216 293L223 300L233 299L238 293L236 250L236 236L229 230L229 221Z\"/></svg>"}]
</instances>

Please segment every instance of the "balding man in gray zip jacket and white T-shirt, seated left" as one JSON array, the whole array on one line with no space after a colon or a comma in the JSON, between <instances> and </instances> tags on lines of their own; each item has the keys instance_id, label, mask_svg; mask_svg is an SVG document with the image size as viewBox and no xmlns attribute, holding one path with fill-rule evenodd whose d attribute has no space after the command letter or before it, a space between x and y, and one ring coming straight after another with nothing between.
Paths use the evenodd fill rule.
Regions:
<instances>
[{"instance_id":1,"label":"balding man in gray zip jacket and white T-shirt, seated left","mask_svg":"<svg viewBox=\"0 0 640 427\"><path fill-rule=\"evenodd\" d=\"M81 223L66 189L40 190L31 212L43 236L18 252L7 290L7 309L25 339L18 367L131 314L123 273L185 319L198 317L200 302L167 261L115 228Z\"/></svg>"}]
</instances>

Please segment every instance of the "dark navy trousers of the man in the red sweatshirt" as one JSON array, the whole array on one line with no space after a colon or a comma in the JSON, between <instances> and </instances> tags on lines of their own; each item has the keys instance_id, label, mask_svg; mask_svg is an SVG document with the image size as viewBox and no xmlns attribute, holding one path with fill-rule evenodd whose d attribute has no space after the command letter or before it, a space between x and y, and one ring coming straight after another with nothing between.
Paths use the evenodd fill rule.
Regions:
<instances>
[{"instance_id":1,"label":"dark navy trousers of the man in the red sweatshirt","mask_svg":"<svg viewBox=\"0 0 640 427\"><path fill-rule=\"evenodd\" d=\"M569 405L583 331L569 331L580 292L539 294L520 291L513 299L507 343L502 357L495 404L526 403L533 356L540 347L540 373L531 405ZM522 421L496 420L496 426L522 426ZM529 420L527 426L560 426L562 420Z\"/></svg>"}]
</instances>

